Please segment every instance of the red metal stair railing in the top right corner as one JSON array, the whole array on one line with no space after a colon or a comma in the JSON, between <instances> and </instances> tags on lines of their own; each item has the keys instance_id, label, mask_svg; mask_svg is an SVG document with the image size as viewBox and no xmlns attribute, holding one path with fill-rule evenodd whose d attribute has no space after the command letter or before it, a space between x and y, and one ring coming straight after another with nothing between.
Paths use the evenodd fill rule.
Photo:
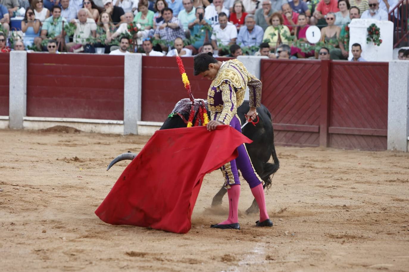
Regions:
<instances>
[{"instance_id":1,"label":"red metal stair railing in the top right corner","mask_svg":"<svg viewBox=\"0 0 409 272\"><path fill-rule=\"evenodd\" d=\"M400 0L388 13L389 21L393 22L393 48L408 38L409 0Z\"/></svg>"}]
</instances>

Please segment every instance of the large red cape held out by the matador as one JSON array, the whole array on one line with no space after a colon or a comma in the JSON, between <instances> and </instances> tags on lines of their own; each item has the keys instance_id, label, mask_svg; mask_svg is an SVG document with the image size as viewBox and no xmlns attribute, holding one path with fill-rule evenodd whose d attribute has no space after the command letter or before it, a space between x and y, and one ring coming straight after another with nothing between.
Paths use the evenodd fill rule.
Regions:
<instances>
[{"instance_id":1,"label":"large red cape held out by the matador","mask_svg":"<svg viewBox=\"0 0 409 272\"><path fill-rule=\"evenodd\" d=\"M205 174L252 140L227 125L158 130L126 167L95 214L113 225L187 233ZM220 181L222 184L222 181Z\"/></svg>"}]
</instances>

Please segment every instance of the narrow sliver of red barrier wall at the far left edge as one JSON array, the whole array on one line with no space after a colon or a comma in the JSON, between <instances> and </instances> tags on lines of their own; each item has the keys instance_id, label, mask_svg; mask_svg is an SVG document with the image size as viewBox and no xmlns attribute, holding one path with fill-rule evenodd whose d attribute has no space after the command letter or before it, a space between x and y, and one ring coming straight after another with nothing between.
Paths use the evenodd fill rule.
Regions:
<instances>
[{"instance_id":1,"label":"narrow sliver of red barrier wall at the far left edge","mask_svg":"<svg viewBox=\"0 0 409 272\"><path fill-rule=\"evenodd\" d=\"M9 116L10 55L0 54L0 115Z\"/></svg>"}]
</instances>

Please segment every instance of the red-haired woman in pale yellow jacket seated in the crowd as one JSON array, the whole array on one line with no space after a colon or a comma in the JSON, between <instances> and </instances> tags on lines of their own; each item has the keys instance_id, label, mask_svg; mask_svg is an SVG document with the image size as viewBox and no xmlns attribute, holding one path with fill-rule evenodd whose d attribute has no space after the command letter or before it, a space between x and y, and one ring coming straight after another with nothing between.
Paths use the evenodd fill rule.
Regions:
<instances>
[{"instance_id":1,"label":"red-haired woman in pale yellow jacket seated in the crowd","mask_svg":"<svg viewBox=\"0 0 409 272\"><path fill-rule=\"evenodd\" d=\"M281 43L288 44L288 36L290 36L290 29L283 25L283 17L281 13L275 12L269 19L270 27L264 31L263 41L268 40L270 50L275 50Z\"/></svg>"}]
</instances>

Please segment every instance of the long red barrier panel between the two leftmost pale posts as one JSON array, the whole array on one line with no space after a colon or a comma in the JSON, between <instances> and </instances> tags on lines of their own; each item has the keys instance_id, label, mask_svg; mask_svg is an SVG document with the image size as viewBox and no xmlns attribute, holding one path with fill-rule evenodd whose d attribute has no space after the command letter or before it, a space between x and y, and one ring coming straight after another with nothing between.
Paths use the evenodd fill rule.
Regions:
<instances>
[{"instance_id":1,"label":"long red barrier panel between the two leftmost pale posts","mask_svg":"<svg viewBox=\"0 0 409 272\"><path fill-rule=\"evenodd\" d=\"M124 120L124 56L27 54L27 116Z\"/></svg>"}]
</instances>

